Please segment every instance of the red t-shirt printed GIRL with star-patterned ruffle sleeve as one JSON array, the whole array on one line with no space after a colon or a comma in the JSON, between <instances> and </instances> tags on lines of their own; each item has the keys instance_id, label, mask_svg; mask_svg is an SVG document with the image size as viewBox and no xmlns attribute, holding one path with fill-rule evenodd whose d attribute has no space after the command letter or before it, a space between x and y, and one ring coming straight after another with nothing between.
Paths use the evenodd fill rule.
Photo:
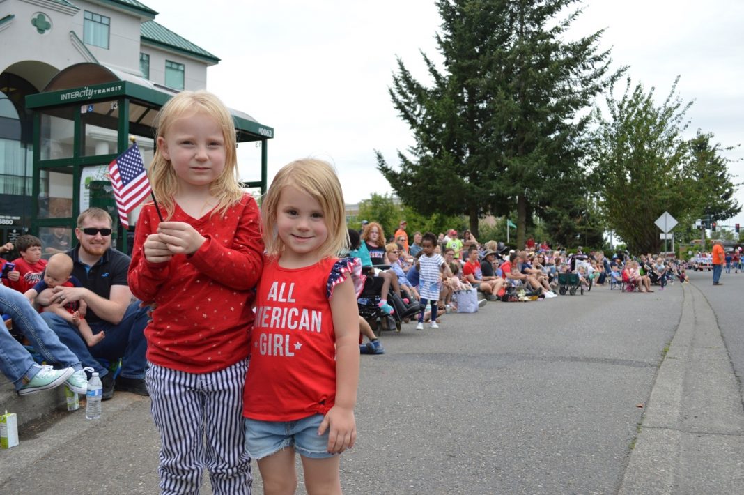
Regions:
<instances>
[{"instance_id":1,"label":"red t-shirt printed GIRL with star-patterned ruffle sleeve","mask_svg":"<svg viewBox=\"0 0 744 495\"><path fill-rule=\"evenodd\" d=\"M330 298L336 284L360 270L355 258L327 258L298 269L266 261L256 296L243 416L295 421L333 407L336 334Z\"/></svg>"}]
</instances>

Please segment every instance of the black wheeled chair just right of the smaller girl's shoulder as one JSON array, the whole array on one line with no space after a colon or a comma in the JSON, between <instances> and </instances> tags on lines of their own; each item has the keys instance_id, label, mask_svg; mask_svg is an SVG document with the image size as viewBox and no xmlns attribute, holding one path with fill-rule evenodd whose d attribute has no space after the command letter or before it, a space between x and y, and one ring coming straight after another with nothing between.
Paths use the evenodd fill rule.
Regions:
<instances>
[{"instance_id":1,"label":"black wheeled chair just right of the smaller girl's shoulder","mask_svg":"<svg viewBox=\"0 0 744 495\"><path fill-rule=\"evenodd\" d=\"M359 316L367 320L377 335L382 333L382 330L396 330L400 332L403 319L411 318L420 311L418 301L411 301L406 304L400 296L391 291L388 293L388 302L395 311L391 315L385 314L382 308L379 307L383 282L384 279L382 277L368 276L365 280L365 287L362 289L362 293L356 299Z\"/></svg>"}]
</instances>

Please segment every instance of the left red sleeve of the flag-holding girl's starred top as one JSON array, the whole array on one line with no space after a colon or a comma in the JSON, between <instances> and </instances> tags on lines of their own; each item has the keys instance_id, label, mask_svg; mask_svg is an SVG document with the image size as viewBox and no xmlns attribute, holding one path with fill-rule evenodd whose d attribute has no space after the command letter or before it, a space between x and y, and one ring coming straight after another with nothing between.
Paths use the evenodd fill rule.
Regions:
<instances>
[{"instance_id":1,"label":"left red sleeve of the flag-holding girl's starred top","mask_svg":"<svg viewBox=\"0 0 744 495\"><path fill-rule=\"evenodd\" d=\"M148 235L157 231L158 222L153 203L144 205L135 229L132 262L129 264L129 274L126 278L132 294L144 302L155 300L155 294L170 275L170 263L150 263L144 258L144 241Z\"/></svg>"}]
</instances>

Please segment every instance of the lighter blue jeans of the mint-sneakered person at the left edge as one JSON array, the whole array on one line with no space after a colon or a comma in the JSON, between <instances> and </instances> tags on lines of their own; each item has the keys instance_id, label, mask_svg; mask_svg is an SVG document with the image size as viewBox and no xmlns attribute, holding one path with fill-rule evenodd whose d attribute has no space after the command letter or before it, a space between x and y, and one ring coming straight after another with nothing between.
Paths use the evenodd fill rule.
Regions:
<instances>
[{"instance_id":1,"label":"lighter blue jeans of the mint-sneakered person at the left edge","mask_svg":"<svg viewBox=\"0 0 744 495\"><path fill-rule=\"evenodd\" d=\"M58 363L65 368L83 369L80 360L60 342L57 334L49 330L39 313L31 307L28 299L17 290L0 285L0 313L10 315L13 328L21 330L33 348L48 363ZM25 347L0 328L0 371L13 382L16 390L28 383L41 366L36 364Z\"/></svg>"}]
</instances>

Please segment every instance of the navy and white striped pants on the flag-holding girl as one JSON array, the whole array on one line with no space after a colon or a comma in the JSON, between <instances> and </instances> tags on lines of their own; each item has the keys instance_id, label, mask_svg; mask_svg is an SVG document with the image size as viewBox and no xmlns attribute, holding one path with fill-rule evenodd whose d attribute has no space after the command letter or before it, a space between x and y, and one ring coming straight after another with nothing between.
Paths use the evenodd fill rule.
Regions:
<instances>
[{"instance_id":1,"label":"navy and white striped pants on the flag-holding girl","mask_svg":"<svg viewBox=\"0 0 744 495\"><path fill-rule=\"evenodd\" d=\"M205 374L149 364L145 380L160 432L161 494L199 494L206 467L215 495L250 495L243 431L248 360Z\"/></svg>"}]
</instances>

